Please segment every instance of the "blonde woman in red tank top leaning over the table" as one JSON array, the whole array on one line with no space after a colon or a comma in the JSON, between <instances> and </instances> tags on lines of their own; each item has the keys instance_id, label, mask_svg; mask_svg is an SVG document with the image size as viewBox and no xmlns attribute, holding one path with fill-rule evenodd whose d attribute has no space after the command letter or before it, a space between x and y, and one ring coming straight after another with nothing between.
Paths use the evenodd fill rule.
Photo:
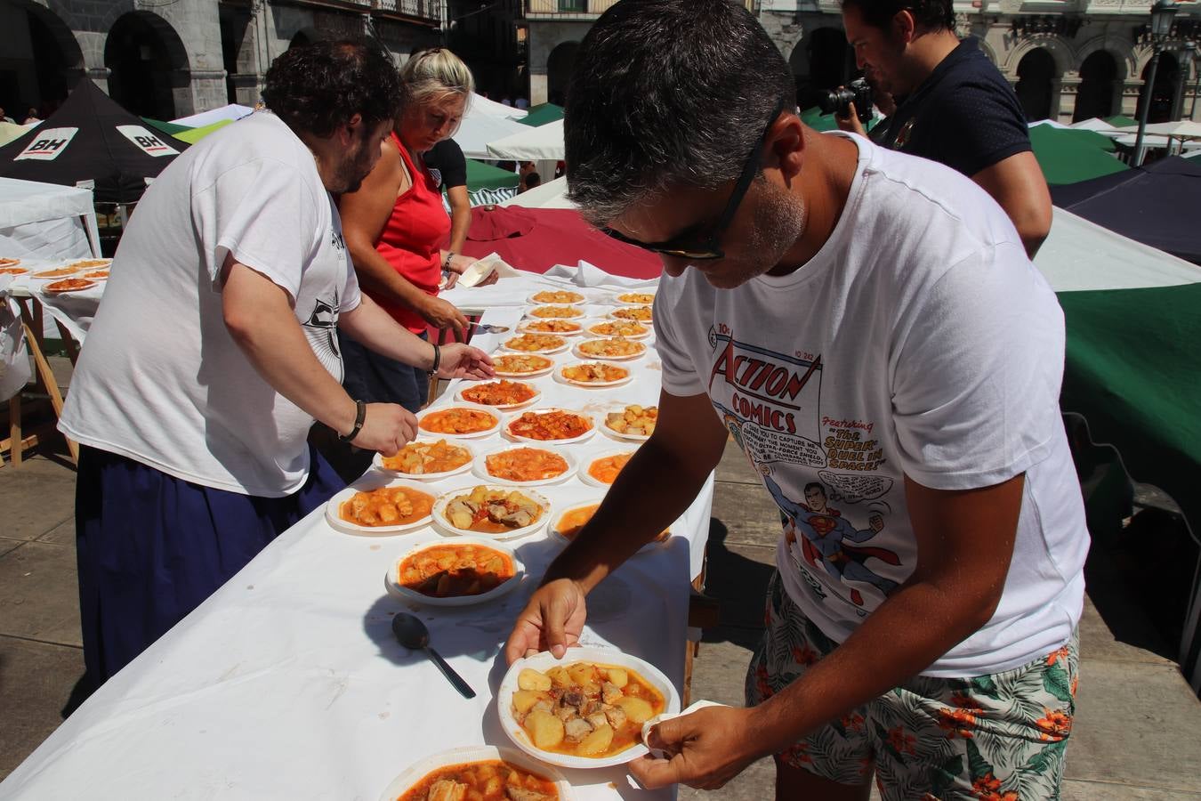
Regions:
<instances>
[{"instance_id":1,"label":"blonde woman in red tank top leaning over the table","mask_svg":"<svg viewBox=\"0 0 1201 801\"><path fill-rule=\"evenodd\" d=\"M400 84L401 110L380 145L375 169L339 202L346 246L363 291L396 322L422 337L430 325L461 336L467 318L437 297L438 286L474 259L442 247L450 220L422 154L459 128L474 80L454 53L432 48L405 62ZM423 370L374 353L353 336L340 341L352 395L412 412L425 405L429 378Z\"/></svg>"}]
</instances>

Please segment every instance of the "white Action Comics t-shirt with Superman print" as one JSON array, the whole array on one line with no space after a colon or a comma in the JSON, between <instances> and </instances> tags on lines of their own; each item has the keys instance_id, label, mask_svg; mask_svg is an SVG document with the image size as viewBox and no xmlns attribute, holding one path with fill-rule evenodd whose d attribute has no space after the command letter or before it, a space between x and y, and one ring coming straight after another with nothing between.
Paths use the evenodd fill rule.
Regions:
<instances>
[{"instance_id":1,"label":"white Action Comics t-shirt with Superman print","mask_svg":"<svg viewBox=\"0 0 1201 801\"><path fill-rule=\"evenodd\" d=\"M789 596L844 640L913 572L904 477L945 490L1026 473L1004 594L926 671L1008 670L1068 640L1083 502L1059 417L1063 312L1004 211L942 165L853 138L830 240L733 289L687 270L655 309L663 387L707 393L787 522Z\"/></svg>"}]
</instances>

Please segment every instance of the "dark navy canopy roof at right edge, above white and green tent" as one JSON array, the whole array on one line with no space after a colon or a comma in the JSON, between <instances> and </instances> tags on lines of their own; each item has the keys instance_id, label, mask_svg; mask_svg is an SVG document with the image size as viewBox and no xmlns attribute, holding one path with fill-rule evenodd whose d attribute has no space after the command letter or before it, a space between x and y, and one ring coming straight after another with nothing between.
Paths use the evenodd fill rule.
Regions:
<instances>
[{"instance_id":1,"label":"dark navy canopy roof at right edge, above white and green tent","mask_svg":"<svg viewBox=\"0 0 1201 801\"><path fill-rule=\"evenodd\" d=\"M1051 187L1056 205L1172 256L1201 264L1201 159L1171 156L1137 169Z\"/></svg>"}]
</instances>

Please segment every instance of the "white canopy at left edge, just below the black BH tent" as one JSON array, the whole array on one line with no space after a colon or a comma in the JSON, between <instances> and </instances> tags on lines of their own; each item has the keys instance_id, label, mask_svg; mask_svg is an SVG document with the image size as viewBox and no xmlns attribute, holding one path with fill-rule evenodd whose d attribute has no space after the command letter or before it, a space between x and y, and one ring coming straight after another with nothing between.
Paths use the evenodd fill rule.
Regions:
<instances>
[{"instance_id":1,"label":"white canopy at left edge, just below the black BH tent","mask_svg":"<svg viewBox=\"0 0 1201 801\"><path fill-rule=\"evenodd\" d=\"M48 261L100 256L91 190L0 178L0 253Z\"/></svg>"}]
</instances>

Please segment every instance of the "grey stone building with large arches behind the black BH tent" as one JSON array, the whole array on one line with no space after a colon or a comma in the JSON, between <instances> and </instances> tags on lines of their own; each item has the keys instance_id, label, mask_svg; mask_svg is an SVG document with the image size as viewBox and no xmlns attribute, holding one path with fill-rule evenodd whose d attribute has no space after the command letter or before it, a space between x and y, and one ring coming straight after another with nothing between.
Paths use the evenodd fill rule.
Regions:
<instances>
[{"instance_id":1,"label":"grey stone building with large arches behind the black BH tent","mask_svg":"<svg viewBox=\"0 0 1201 801\"><path fill-rule=\"evenodd\" d=\"M294 42L368 34L399 62L441 41L443 16L442 0L0 0L0 103L44 115L86 76L155 119L252 106Z\"/></svg>"}]
</instances>

